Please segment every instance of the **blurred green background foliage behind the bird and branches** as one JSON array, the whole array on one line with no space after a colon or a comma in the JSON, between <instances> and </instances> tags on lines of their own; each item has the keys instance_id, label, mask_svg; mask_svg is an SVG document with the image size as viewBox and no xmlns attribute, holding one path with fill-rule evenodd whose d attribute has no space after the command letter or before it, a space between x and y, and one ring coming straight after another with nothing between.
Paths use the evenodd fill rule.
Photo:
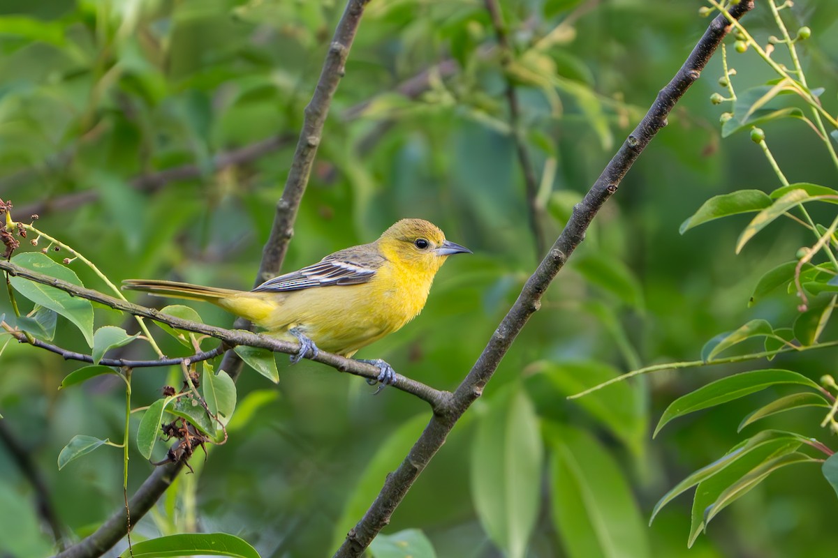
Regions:
<instances>
[{"instance_id":1,"label":"blurred green background foliage behind the bird and branches","mask_svg":"<svg viewBox=\"0 0 838 558\"><path fill-rule=\"evenodd\" d=\"M368 242L398 218L437 223L475 255L449 262L422 315L359 356L384 358L401 374L453 389L537 262L506 79L520 96L552 242L614 145L700 38L707 23L701 5L503 1L514 49L504 73L482 3L374 0L335 96L284 269ZM293 140L232 166L217 166L218 156L296 137L342 9L334 1L7 0L0 5L0 198L27 223L30 204L46 202L35 225L116 283L148 277L249 287ZM799 51L810 85L825 88L821 101L835 114L838 4L799 2L784 17L794 28L810 26ZM763 44L776 33L763 3L744 23ZM772 79L753 50L729 50L737 87ZM775 57L790 65L782 49ZM435 69L450 60L455 71ZM398 89L422 72L425 86ZM650 425L676 397L753 363L662 372L565 398L619 371L696 360L707 340L748 320L794 320L794 294L784 289L748 307L758 279L811 243L793 223L773 223L738 255L748 218L678 234L708 197L780 186L747 134L722 141L722 110L709 102L711 93L724 92L716 84L721 75L716 57L597 216L385 535L422 530L436 555L464 558L834 554L835 495L815 467L780 472L753 489L689 554L687 499L644 525L662 494L742 442L737 424L747 412L789 392L774 386L679 418L654 442ZM834 166L803 124L765 127L791 182L836 186ZM186 179L132 182L181 166L189 166ZM829 223L829 211L815 209L813 218ZM23 241L21 250L46 244ZM50 255L60 262L66 254ZM90 269L70 267L88 287L104 289ZM18 301L24 313L32 310ZM206 323L231 324L215 307L194 308ZM5 298L2 314L15 323ZM97 328L136 330L113 310L97 307L94 317ZM158 340L168 355L189 354L167 335ZM63 318L54 342L87 350ZM152 356L138 343L109 354ZM816 380L834 358L834 350L810 351L794 357L794 370ZM137 524L135 540L224 531L262 556L328 555L360 519L427 423L427 406L395 389L371 397L360 378L315 363L289 368L279 361L276 387L252 370L241 376L229 441L209 448L206 463L195 455L195 474L178 478ZM790 367L789 357L772 366ZM116 449L98 448L58 470L61 448L74 436L122 438L118 378L96 376L57 391L80 367L14 342L0 356L2 427L43 474L70 540L122 506ZM180 381L175 368L135 371L133 407L150 405L161 387ZM132 436L141 417L132 414ZM762 422L824 438L822 417L822 409L810 408ZM153 459L163 457L162 446ZM50 535L8 448L0 445L0 553L46 555ZM153 469L135 440L131 458L129 493ZM427 542L414 531L392 540L398 536ZM387 555L392 540L374 547L376 555Z\"/></svg>"}]
</instances>

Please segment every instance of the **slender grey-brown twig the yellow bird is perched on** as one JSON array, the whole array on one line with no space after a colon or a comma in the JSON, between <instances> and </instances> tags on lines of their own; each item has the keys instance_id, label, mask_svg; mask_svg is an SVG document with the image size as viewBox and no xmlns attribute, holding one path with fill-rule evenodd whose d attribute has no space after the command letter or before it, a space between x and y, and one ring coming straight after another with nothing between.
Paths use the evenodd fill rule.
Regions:
<instances>
[{"instance_id":1,"label":"slender grey-brown twig the yellow bird is perched on","mask_svg":"<svg viewBox=\"0 0 838 558\"><path fill-rule=\"evenodd\" d=\"M80 287L77 284L72 284L61 279L55 279L54 277L49 277L49 275L39 274L31 269L22 268L13 262L0 260L0 269L8 271L9 274L29 279L35 283L46 284L50 287L63 290L66 293L73 294L74 296L78 296L82 299L88 299L102 305L110 306L115 310L122 310L128 314L142 316L143 318L148 318L149 320L155 320L160 323L170 325L178 330L192 331L194 333L215 337L215 339L221 340L225 346L234 347L246 345L251 347L261 347L262 349L267 349L268 351L282 352L289 355L296 354L300 349L300 345L297 341L283 341L275 337L271 337L270 335L256 334L252 331L225 330L224 328L215 327L215 325L206 325L199 322L183 320L172 315L163 314L159 310L155 310L153 308L135 305L131 302L117 299L96 290L85 289L85 287ZM183 359L176 360L176 364L183 361ZM321 362L325 365L332 366L338 371L349 372L349 374L362 376L369 380L375 380L381 373L377 366L373 366L365 362L354 361L326 351L320 351L318 356L315 356L310 360ZM117 359L115 361L118 362L120 360ZM422 400L428 402L434 409L442 407L451 397L451 393L449 392L441 392L432 387L426 386L420 381L411 380L410 378L399 374L396 374L395 387L402 392L410 393L411 395L421 398Z\"/></svg>"}]
</instances>

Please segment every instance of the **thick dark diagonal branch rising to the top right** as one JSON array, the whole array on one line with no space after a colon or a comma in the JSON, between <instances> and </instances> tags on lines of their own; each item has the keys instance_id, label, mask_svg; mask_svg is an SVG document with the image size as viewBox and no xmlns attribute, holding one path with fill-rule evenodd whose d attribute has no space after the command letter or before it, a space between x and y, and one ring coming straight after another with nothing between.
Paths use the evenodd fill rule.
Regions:
<instances>
[{"instance_id":1,"label":"thick dark diagonal branch rising to the top right","mask_svg":"<svg viewBox=\"0 0 838 558\"><path fill-rule=\"evenodd\" d=\"M742 0L732 6L730 14L734 18L741 18L753 8L753 0ZM561 232L556 243L553 244L546 258L541 261L538 269L521 290L510 312L494 331L489 344L479 356L465 380L454 392L450 405L434 412L425 431L416 440L410 453L401 462L396 471L387 475L384 487L367 510L364 517L346 535L344 544L335 553L335 558L349 558L360 556L370 545L385 525L390 522L391 515L404 499L407 491L416 478L427 467L427 464L445 443L447 434L463 415L468 407L481 395L486 383L494 375L501 359L512 345L515 337L520 333L530 315L539 309L541 295L544 294L552 279L563 267L566 260L584 238L585 231L592 222L603 203L617 192L619 182L640 155L649 145L657 131L666 125L666 116L680 100L685 91L701 75L707 61L722 42L729 28L727 19L718 16L713 19L704 36L696 44L685 64L678 73L660 90L649 112L634 129L632 134L623 142L623 146L612 160L608 162L603 173L594 182L582 202L573 208L572 216Z\"/></svg>"}]
</instances>

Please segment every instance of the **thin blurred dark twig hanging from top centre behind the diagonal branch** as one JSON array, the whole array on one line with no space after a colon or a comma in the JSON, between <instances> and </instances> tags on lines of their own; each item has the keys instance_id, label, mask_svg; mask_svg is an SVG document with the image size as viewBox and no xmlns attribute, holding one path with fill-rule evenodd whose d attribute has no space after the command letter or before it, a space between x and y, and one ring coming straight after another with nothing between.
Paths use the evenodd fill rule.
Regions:
<instances>
[{"instance_id":1,"label":"thin blurred dark twig hanging from top centre behind the diagonal branch","mask_svg":"<svg viewBox=\"0 0 838 558\"><path fill-rule=\"evenodd\" d=\"M489 17L492 18L492 27L494 33L498 36L498 45L500 47L500 64L504 71L504 79L506 79L506 103L510 107L510 130L512 132L512 140L515 141L515 152L518 154L518 162L520 163L521 172L524 174L524 186L526 194L527 209L530 217L530 229L532 230L533 240L535 241L535 257L541 258L544 253L544 235L541 233L541 207L538 204L538 178L535 177L535 168L530 160L530 153L526 149L524 137L521 134L520 127L520 105L518 104L518 94L515 91L515 83L512 81L507 69L512 62L512 45L510 45L509 36L506 33L506 23L504 23L503 13L500 11L500 6L497 0L484 0L486 11L489 12Z\"/></svg>"}]
</instances>

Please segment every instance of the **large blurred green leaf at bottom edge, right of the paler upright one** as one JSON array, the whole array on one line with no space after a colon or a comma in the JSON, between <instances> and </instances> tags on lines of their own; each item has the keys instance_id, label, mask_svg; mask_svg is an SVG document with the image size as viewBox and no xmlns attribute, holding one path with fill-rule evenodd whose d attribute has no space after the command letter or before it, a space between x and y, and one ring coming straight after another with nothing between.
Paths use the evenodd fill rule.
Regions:
<instances>
[{"instance_id":1,"label":"large blurred green leaf at bottom edge, right of the paler upright one","mask_svg":"<svg viewBox=\"0 0 838 558\"><path fill-rule=\"evenodd\" d=\"M570 558L645 558L649 535L623 468L590 434L546 424L553 523Z\"/></svg>"}]
</instances>

